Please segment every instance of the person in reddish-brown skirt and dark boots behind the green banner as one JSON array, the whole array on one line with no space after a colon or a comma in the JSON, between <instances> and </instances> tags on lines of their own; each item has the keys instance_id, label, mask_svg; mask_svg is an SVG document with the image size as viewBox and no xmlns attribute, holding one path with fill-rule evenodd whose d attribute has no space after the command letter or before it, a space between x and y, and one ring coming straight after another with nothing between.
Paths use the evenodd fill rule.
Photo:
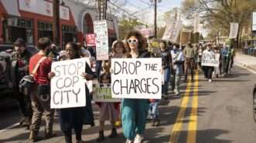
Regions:
<instances>
[{"instance_id":1,"label":"person in reddish-brown skirt and dark boots behind the green banner","mask_svg":"<svg viewBox=\"0 0 256 143\"><path fill-rule=\"evenodd\" d=\"M110 73L110 62L104 62L103 68L104 73L100 76L99 82L100 84L111 84L111 73ZM97 105L100 106L100 127L99 127L99 137L97 141L104 141L104 122L111 121L111 135L109 138L115 138L118 136L117 128L115 126L115 121L118 120L118 105L116 102L98 102Z\"/></svg>"}]
</instances>

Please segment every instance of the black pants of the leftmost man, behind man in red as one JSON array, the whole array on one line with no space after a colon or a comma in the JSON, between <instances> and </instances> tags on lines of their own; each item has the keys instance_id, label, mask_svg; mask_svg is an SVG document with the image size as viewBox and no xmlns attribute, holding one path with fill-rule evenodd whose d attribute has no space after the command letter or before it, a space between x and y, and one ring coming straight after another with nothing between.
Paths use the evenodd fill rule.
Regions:
<instances>
[{"instance_id":1,"label":"black pants of the leftmost man, behind man in red","mask_svg":"<svg viewBox=\"0 0 256 143\"><path fill-rule=\"evenodd\" d=\"M17 100L19 101L19 109L24 117L32 118L31 99L29 95L23 95L20 91L15 91Z\"/></svg>"}]
</instances>

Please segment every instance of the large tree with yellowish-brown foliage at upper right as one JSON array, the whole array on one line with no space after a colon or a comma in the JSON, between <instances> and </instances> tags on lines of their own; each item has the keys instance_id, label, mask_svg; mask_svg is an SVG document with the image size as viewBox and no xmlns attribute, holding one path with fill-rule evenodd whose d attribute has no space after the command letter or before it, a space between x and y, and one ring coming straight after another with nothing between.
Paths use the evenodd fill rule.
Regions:
<instances>
[{"instance_id":1,"label":"large tree with yellowish-brown foliage at upper right","mask_svg":"<svg viewBox=\"0 0 256 143\"><path fill-rule=\"evenodd\" d=\"M207 25L210 25L212 35L223 32L228 34L230 22L238 22L237 47L240 42L241 32L251 23L251 13L256 9L254 0L185 0L182 3L183 14L186 18L193 18L198 12Z\"/></svg>"}]
</instances>

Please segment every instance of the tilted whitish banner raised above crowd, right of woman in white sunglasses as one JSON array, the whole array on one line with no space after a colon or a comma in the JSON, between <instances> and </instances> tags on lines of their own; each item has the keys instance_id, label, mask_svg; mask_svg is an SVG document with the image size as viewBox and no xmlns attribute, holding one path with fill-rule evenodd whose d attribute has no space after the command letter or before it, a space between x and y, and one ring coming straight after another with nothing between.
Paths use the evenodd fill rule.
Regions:
<instances>
[{"instance_id":1,"label":"tilted whitish banner raised above crowd, right of woman in white sunglasses","mask_svg":"<svg viewBox=\"0 0 256 143\"><path fill-rule=\"evenodd\" d=\"M183 28L181 21L173 21L170 22L169 25L166 27L166 31L162 36L162 39L169 40L170 42L177 42L179 37L179 32Z\"/></svg>"}]
</instances>

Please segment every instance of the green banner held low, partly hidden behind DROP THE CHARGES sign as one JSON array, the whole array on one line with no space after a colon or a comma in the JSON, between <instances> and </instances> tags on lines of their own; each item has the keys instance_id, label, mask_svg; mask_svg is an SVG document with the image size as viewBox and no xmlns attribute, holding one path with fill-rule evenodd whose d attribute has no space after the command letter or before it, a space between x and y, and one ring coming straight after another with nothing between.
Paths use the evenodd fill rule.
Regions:
<instances>
[{"instance_id":1,"label":"green banner held low, partly hidden behind DROP THE CHARGES sign","mask_svg":"<svg viewBox=\"0 0 256 143\"><path fill-rule=\"evenodd\" d=\"M93 85L93 100L97 102L121 102L120 98L112 98L111 84Z\"/></svg>"}]
</instances>

